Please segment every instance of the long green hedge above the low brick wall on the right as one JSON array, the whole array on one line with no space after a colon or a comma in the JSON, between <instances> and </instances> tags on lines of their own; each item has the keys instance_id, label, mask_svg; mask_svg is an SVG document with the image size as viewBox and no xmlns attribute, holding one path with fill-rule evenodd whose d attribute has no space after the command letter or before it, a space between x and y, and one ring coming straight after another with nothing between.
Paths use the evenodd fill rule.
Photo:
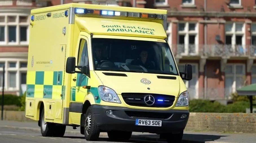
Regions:
<instances>
[{"instance_id":1,"label":"long green hedge above the low brick wall on the right","mask_svg":"<svg viewBox=\"0 0 256 143\"><path fill-rule=\"evenodd\" d=\"M245 113L246 108L250 108L249 101L237 101L228 105L209 100L191 100L189 102L190 112L212 112L212 113Z\"/></svg>"}]
</instances>

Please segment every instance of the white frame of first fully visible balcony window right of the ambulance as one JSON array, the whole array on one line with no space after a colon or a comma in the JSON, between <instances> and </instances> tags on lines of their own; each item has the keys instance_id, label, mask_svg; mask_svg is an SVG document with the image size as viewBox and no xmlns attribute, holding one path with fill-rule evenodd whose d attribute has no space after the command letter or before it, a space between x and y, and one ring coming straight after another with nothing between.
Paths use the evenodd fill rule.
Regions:
<instances>
[{"instance_id":1,"label":"white frame of first fully visible balcony window right of the ambulance","mask_svg":"<svg viewBox=\"0 0 256 143\"><path fill-rule=\"evenodd\" d=\"M179 31L179 24L180 23L185 23L185 27L184 27L184 31ZM189 24L195 24L195 30L194 31L189 31ZM179 22L178 23L178 37L177 37L177 43L179 43L179 35L185 35L185 39L184 39L184 53L181 53L181 55L197 55L198 54L198 43L199 43L199 39L198 39L198 23L197 22ZM189 35L195 35L195 53L189 53Z\"/></svg>"}]
</instances>

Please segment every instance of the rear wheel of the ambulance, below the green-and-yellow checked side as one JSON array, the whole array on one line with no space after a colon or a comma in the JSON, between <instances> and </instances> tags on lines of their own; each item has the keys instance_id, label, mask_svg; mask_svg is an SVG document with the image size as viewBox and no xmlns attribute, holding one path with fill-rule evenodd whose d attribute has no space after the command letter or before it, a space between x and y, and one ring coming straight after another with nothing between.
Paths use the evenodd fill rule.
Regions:
<instances>
[{"instance_id":1,"label":"rear wheel of the ambulance, below the green-and-yellow checked side","mask_svg":"<svg viewBox=\"0 0 256 143\"><path fill-rule=\"evenodd\" d=\"M44 122L44 109L41 112L40 128L43 137L63 137L66 130L64 125Z\"/></svg>"}]
</instances>

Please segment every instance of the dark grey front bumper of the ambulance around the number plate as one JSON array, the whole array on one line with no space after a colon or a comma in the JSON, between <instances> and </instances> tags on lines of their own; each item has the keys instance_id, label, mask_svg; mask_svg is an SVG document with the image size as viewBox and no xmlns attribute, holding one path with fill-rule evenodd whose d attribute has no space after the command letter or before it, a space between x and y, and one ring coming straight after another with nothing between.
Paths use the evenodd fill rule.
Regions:
<instances>
[{"instance_id":1,"label":"dark grey front bumper of the ambulance around the number plate","mask_svg":"<svg viewBox=\"0 0 256 143\"><path fill-rule=\"evenodd\" d=\"M101 106L92 105L97 126L102 131L130 131L130 132L149 132L149 133L172 133L181 132L184 130L187 121L189 119L188 110L141 110L141 109L130 109L126 107L112 107L112 106ZM113 115L106 113L106 110L112 110ZM146 113L147 117L142 117L141 114L136 114L136 117L127 114L127 112L133 113ZM150 116L152 113L152 117ZM160 119L154 115L170 114L169 118ZM185 119L181 119L181 115L187 115ZM138 117L140 116L140 117ZM160 116L159 116L160 117ZM136 126L135 119L148 119L148 120L161 120L162 126Z\"/></svg>"}]
</instances>

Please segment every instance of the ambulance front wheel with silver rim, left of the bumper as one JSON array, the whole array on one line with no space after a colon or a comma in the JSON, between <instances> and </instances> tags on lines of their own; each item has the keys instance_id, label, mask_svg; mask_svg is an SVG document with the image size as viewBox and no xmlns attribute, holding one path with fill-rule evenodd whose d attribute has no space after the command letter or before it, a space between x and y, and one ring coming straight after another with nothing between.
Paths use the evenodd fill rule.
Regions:
<instances>
[{"instance_id":1,"label":"ambulance front wheel with silver rim, left of the bumper","mask_svg":"<svg viewBox=\"0 0 256 143\"><path fill-rule=\"evenodd\" d=\"M100 129L95 121L94 113L91 107L86 111L84 118L84 137L86 140L97 140L100 136Z\"/></svg>"}]
</instances>

